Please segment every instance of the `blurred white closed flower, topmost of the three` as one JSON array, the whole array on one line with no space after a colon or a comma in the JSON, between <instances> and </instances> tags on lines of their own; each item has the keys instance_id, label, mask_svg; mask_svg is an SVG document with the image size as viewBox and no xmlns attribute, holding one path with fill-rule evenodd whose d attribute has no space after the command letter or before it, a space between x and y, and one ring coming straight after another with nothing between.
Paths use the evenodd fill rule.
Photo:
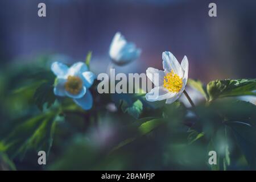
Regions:
<instances>
[{"instance_id":1,"label":"blurred white closed flower, topmost of the three","mask_svg":"<svg viewBox=\"0 0 256 182\"><path fill-rule=\"evenodd\" d=\"M110 44L109 56L117 65L124 65L137 59L141 55L141 49L134 43L128 43L120 32L117 32Z\"/></svg>"}]
</instances>

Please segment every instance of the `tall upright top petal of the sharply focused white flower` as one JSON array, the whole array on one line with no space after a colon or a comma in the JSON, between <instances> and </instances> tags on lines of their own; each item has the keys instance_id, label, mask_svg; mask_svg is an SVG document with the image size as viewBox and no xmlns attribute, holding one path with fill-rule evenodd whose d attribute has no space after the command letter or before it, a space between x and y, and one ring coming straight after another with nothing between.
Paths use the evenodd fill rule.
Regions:
<instances>
[{"instance_id":1,"label":"tall upright top petal of the sharply focused white flower","mask_svg":"<svg viewBox=\"0 0 256 182\"><path fill-rule=\"evenodd\" d=\"M177 61L176 57L171 52L163 52L162 59L164 69L167 69L168 72L173 70L179 77L183 77L184 71L181 68L179 61Z\"/></svg>"}]
</instances>

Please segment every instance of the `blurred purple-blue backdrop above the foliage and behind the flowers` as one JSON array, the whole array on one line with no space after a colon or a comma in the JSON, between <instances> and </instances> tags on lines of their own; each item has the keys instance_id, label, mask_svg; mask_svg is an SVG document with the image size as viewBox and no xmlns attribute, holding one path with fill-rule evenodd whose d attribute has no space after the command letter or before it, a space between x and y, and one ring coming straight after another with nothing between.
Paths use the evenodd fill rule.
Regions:
<instances>
[{"instance_id":1,"label":"blurred purple-blue backdrop above the foliage and behind the flowers","mask_svg":"<svg viewBox=\"0 0 256 182\"><path fill-rule=\"evenodd\" d=\"M47 6L39 18L38 3ZM217 17L208 16L210 2ZM142 49L139 60L119 72L162 68L162 52L189 59L189 76L255 77L256 2L189 0L2 0L1 65L42 54L83 60L93 51L92 69L105 72L109 45L117 31Z\"/></svg>"}]
</instances>

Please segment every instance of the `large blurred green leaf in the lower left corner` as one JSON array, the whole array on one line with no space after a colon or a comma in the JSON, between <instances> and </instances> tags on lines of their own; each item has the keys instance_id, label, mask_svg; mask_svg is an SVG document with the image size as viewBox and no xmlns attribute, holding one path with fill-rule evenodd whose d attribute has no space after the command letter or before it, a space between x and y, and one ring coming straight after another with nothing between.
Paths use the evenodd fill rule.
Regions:
<instances>
[{"instance_id":1,"label":"large blurred green leaf in the lower left corner","mask_svg":"<svg viewBox=\"0 0 256 182\"><path fill-rule=\"evenodd\" d=\"M11 158L23 159L28 150L43 150L47 154L53 141L55 131L55 113L40 114L27 121L18 123L0 143L0 150Z\"/></svg>"}]
</instances>

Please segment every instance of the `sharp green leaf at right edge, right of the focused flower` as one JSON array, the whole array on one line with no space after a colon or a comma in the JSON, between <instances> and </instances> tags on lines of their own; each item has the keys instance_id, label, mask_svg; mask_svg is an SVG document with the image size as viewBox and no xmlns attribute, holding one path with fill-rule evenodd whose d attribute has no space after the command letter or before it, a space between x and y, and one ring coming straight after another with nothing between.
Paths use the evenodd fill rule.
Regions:
<instances>
[{"instance_id":1,"label":"sharp green leaf at right edge, right of the focused flower","mask_svg":"<svg viewBox=\"0 0 256 182\"><path fill-rule=\"evenodd\" d=\"M254 90L256 90L256 79L215 80L207 85L210 101L221 97L256 96L256 93L253 92Z\"/></svg>"}]
</instances>

